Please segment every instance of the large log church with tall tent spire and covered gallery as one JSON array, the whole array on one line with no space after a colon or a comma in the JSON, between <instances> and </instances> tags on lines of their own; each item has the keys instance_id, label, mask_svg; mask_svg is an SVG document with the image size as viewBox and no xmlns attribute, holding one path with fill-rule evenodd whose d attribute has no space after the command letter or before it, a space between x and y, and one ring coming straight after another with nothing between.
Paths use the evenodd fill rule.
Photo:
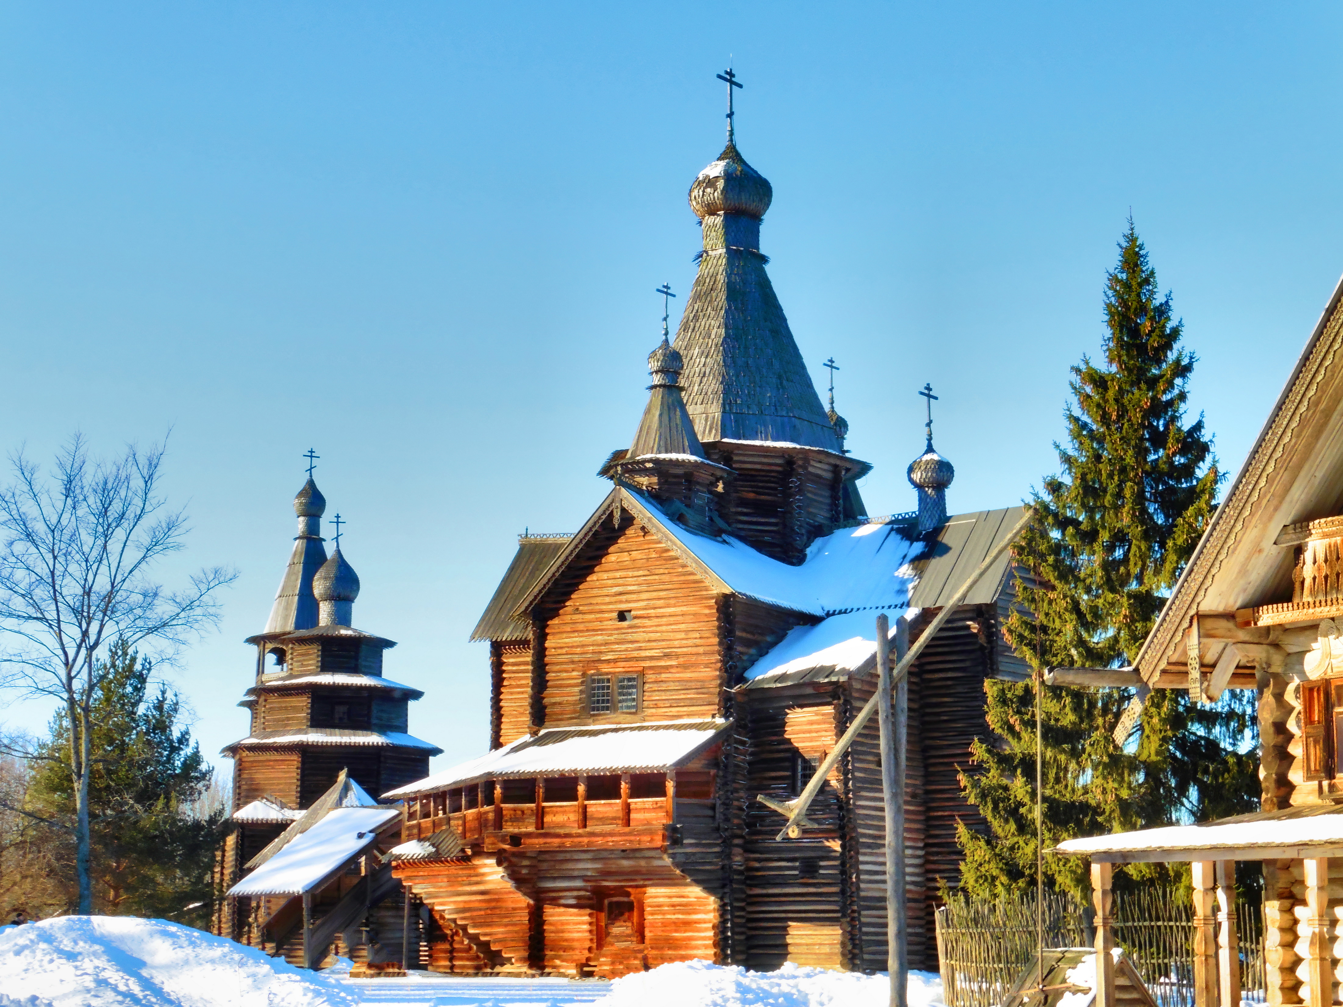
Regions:
<instances>
[{"instance_id":1,"label":"large log church with tall tent spire and covered gallery","mask_svg":"<svg viewBox=\"0 0 1343 1007\"><path fill-rule=\"evenodd\" d=\"M1019 509L948 516L929 424L917 510L866 516L872 466L845 450L766 273L771 199L729 128L690 187L698 274L629 447L600 467L610 491L577 533L521 537L475 628L490 751L381 792L404 800L392 865L431 968L885 968L876 718L800 839L778 841L756 796L795 796L874 691L877 614L908 612L917 638ZM1013 583L1003 559L911 677L916 968L935 967L956 822L982 827L959 773L987 733L984 679L1026 675L999 631Z\"/></svg>"}]
</instances>

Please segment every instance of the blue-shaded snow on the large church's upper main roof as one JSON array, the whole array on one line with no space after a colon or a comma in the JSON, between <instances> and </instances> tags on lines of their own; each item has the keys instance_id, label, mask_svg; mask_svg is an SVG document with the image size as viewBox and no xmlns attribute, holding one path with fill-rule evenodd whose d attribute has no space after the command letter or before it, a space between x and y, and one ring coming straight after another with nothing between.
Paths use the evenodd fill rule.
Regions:
<instances>
[{"instance_id":1,"label":"blue-shaded snow on the large church's upper main roof","mask_svg":"<svg viewBox=\"0 0 1343 1007\"><path fill-rule=\"evenodd\" d=\"M917 577L911 563L923 553L924 544L905 537L904 525L872 521L841 528L817 538L800 567L790 567L731 536L710 538L689 532L666 520L646 497L630 495L638 495L666 534L739 595L822 616L861 608L905 608L909 603Z\"/></svg>"}]
</instances>

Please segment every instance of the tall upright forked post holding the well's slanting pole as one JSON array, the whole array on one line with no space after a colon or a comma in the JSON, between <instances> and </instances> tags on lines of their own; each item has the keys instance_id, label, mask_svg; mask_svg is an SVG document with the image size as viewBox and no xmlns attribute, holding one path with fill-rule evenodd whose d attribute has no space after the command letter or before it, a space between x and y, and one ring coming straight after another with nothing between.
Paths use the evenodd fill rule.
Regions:
<instances>
[{"instance_id":1,"label":"tall upright forked post holding the well's slanting pole","mask_svg":"<svg viewBox=\"0 0 1343 1007\"><path fill-rule=\"evenodd\" d=\"M909 623L901 616L896 626L896 661L900 661L909 647ZM900 689L908 706L905 681L900 681ZM905 928L905 724L890 682L890 622L885 612L877 616L877 694L881 802L886 816L886 973L890 976L890 1007L905 1007L909 987Z\"/></svg>"}]
</instances>

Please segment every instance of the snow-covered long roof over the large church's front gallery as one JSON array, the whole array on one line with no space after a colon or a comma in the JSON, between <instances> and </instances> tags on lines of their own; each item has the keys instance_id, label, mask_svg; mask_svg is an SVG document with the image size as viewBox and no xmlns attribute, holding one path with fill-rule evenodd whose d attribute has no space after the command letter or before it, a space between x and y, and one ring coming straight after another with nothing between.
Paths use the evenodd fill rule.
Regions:
<instances>
[{"instance_id":1,"label":"snow-covered long roof over the large church's front gallery","mask_svg":"<svg viewBox=\"0 0 1343 1007\"><path fill-rule=\"evenodd\" d=\"M461 787L486 779L573 773L661 772L705 748L731 721L662 721L611 728L549 728L478 759L388 791L383 799Z\"/></svg>"}]
</instances>

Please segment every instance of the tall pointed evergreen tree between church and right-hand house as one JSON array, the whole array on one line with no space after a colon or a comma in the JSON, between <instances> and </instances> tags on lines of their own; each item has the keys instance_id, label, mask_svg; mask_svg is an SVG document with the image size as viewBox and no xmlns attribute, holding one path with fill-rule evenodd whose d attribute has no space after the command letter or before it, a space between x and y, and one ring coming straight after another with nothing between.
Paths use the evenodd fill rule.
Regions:
<instances>
[{"instance_id":1,"label":"tall pointed evergreen tree between church and right-hand house","mask_svg":"<svg viewBox=\"0 0 1343 1007\"><path fill-rule=\"evenodd\" d=\"M1104 363L1072 368L1061 471L1033 493L1035 521L1014 556L1018 610L1005 631L1035 677L1046 667L1119 667L1132 662L1213 514L1221 473L1203 418L1185 422L1194 354L1133 222L1107 274ZM1035 874L1035 713L1031 682L987 683L988 725L976 744L979 772L967 798L991 835L960 828L962 883L980 896L1025 888ZM1061 839L1166 824L1257 807L1253 697L1229 690L1209 706L1183 690L1156 690L1136 745L1111 732L1132 693L1042 689L1044 838ZM1085 863L1046 858L1056 888L1084 896ZM1132 878L1166 875L1159 865ZM1175 869L1178 870L1178 869Z\"/></svg>"}]
</instances>

